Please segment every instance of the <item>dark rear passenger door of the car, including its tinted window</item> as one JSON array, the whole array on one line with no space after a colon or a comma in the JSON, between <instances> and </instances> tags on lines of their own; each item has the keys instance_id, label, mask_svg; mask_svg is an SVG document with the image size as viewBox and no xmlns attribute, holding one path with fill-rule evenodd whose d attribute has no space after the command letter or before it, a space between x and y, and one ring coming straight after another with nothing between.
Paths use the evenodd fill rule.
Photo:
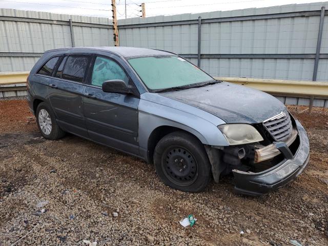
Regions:
<instances>
[{"instance_id":1,"label":"dark rear passenger door of the car, including its tinted window","mask_svg":"<svg viewBox=\"0 0 328 246\"><path fill-rule=\"evenodd\" d=\"M90 55L66 55L49 83L50 104L63 130L88 137L83 114L84 81Z\"/></svg>"}]
</instances>

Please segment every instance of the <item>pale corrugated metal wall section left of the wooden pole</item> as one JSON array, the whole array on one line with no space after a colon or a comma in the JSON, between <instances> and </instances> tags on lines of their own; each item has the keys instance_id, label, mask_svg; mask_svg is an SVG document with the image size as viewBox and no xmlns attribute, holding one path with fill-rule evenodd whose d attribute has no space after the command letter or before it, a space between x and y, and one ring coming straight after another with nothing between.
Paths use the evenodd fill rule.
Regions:
<instances>
[{"instance_id":1,"label":"pale corrugated metal wall section left of the wooden pole","mask_svg":"<svg viewBox=\"0 0 328 246\"><path fill-rule=\"evenodd\" d=\"M29 71L46 50L75 46L113 46L108 18L0 9L0 72Z\"/></svg>"}]
</instances>

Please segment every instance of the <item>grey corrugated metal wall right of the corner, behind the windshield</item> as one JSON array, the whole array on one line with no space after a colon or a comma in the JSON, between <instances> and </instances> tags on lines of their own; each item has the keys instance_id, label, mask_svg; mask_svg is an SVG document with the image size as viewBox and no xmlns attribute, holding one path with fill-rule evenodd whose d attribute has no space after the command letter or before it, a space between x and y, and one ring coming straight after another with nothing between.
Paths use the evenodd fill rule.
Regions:
<instances>
[{"instance_id":1,"label":"grey corrugated metal wall right of the corner, behind the windshield","mask_svg":"<svg viewBox=\"0 0 328 246\"><path fill-rule=\"evenodd\" d=\"M328 2L121 19L118 22L120 45L168 50L195 57L189 59L197 64L198 25L187 21L197 20L200 16L200 53L204 57L212 55L211 58L201 58L200 66L211 75L312 80L322 6L328 7ZM203 23L203 20L208 22L213 18L217 19ZM168 22L187 24L170 25ZM317 80L328 81L327 16L324 18L320 53L325 58L319 60ZM218 54L227 58L213 57ZM275 54L282 56L272 58ZM291 57L286 57L290 54ZM260 55L260 58L252 55ZM300 58L295 58L297 55Z\"/></svg>"}]
</instances>

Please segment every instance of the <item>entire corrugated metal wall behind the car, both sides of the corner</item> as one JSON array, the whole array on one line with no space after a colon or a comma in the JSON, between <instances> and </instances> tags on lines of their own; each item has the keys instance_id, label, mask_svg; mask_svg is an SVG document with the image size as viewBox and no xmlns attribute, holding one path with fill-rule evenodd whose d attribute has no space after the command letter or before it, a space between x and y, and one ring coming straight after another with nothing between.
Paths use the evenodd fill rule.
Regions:
<instances>
[{"instance_id":1,"label":"entire corrugated metal wall behind the car, both sides of the corner","mask_svg":"<svg viewBox=\"0 0 328 246\"><path fill-rule=\"evenodd\" d=\"M200 16L200 65L211 75L312 80L319 14L327 3L120 19L120 45L168 50L197 64ZM71 47L70 18L75 46L114 45L107 18L0 9L0 72L28 71L45 50ZM327 16L320 53L317 80L327 81ZM282 57L272 57L275 54Z\"/></svg>"}]
</instances>

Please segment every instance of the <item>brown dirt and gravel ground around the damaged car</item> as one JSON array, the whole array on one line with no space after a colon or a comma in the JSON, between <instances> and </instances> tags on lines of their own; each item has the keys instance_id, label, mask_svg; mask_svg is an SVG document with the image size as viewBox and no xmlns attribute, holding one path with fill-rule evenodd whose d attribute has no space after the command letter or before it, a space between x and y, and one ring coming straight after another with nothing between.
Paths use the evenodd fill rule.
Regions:
<instances>
[{"instance_id":1,"label":"brown dirt and gravel ground around the damaged car","mask_svg":"<svg viewBox=\"0 0 328 246\"><path fill-rule=\"evenodd\" d=\"M42 138L25 100L0 100L0 245L328 245L328 110L289 109L308 131L309 165L253 198L233 193L232 176L202 193L173 190L137 158ZM182 228L189 214L197 221Z\"/></svg>"}]
</instances>

